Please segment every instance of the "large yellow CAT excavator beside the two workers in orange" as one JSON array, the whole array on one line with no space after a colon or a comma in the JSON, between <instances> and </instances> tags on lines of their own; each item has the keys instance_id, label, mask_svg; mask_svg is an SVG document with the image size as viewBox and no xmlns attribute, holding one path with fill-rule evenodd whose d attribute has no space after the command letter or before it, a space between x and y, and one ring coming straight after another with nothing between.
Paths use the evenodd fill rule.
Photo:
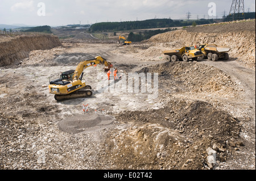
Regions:
<instances>
[{"instance_id":1,"label":"large yellow CAT excavator beside the two workers in orange","mask_svg":"<svg viewBox=\"0 0 256 181\"><path fill-rule=\"evenodd\" d=\"M55 94L57 101L76 99L76 98L89 98L92 96L92 87L82 82L84 76L84 69L90 66L103 64L106 67L111 66L111 62L108 62L105 58L100 56L95 57L92 60L85 60L80 62L76 70L69 70L61 73L61 75L51 81L52 77L49 77L49 92Z\"/></svg>"}]
</instances>

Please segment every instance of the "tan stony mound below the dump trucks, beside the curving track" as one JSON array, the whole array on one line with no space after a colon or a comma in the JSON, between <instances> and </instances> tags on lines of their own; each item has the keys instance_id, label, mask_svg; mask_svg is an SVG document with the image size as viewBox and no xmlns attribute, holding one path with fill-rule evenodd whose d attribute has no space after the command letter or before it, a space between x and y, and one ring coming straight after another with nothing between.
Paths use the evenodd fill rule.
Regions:
<instances>
[{"instance_id":1,"label":"tan stony mound below the dump trucks, beside the curving track","mask_svg":"<svg viewBox=\"0 0 256 181\"><path fill-rule=\"evenodd\" d=\"M200 62L166 62L152 65L138 73L158 73L160 89L170 93L212 93L214 95L237 96L236 83L221 70Z\"/></svg>"}]
</instances>

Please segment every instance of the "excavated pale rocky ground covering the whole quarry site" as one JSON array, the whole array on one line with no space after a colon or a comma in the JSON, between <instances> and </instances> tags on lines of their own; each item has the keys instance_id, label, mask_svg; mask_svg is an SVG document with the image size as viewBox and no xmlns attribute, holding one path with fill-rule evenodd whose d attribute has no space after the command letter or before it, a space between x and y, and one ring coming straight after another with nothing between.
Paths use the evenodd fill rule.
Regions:
<instances>
[{"instance_id":1,"label":"excavated pale rocky ground covering the whole quarry site","mask_svg":"<svg viewBox=\"0 0 256 181\"><path fill-rule=\"evenodd\" d=\"M125 47L65 40L1 66L0 169L255 169L255 21L234 23L167 32ZM209 33L212 27L218 31ZM230 60L164 60L163 50L203 41L230 45ZM56 102L48 77L95 56L111 61L123 77L157 73L157 98L100 92L108 81L97 66L84 76L92 98Z\"/></svg>"}]
</instances>

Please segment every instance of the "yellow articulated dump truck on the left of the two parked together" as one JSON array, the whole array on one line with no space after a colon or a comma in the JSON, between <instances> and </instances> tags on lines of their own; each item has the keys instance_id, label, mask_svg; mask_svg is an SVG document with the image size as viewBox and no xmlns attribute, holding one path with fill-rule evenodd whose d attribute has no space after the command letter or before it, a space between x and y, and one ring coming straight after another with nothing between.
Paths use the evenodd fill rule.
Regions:
<instances>
[{"instance_id":1,"label":"yellow articulated dump truck on the left of the two parked together","mask_svg":"<svg viewBox=\"0 0 256 181\"><path fill-rule=\"evenodd\" d=\"M203 52L196 49L194 46L183 47L175 50L166 50L163 52L166 55L167 61L176 62L177 60L188 62L189 60L196 61L198 57L203 55Z\"/></svg>"}]
</instances>

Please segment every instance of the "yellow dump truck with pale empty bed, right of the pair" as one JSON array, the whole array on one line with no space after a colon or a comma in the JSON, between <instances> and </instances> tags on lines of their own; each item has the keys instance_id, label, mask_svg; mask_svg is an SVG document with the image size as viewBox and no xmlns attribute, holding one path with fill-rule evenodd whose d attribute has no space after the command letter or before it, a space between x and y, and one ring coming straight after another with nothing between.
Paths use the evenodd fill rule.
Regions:
<instances>
[{"instance_id":1,"label":"yellow dump truck with pale empty bed, right of the pair","mask_svg":"<svg viewBox=\"0 0 256 181\"><path fill-rule=\"evenodd\" d=\"M218 46L215 44L202 44L199 45L199 50L203 52L203 55L200 57L201 59L218 61L219 59L229 60L230 47L226 46Z\"/></svg>"}]
</instances>

